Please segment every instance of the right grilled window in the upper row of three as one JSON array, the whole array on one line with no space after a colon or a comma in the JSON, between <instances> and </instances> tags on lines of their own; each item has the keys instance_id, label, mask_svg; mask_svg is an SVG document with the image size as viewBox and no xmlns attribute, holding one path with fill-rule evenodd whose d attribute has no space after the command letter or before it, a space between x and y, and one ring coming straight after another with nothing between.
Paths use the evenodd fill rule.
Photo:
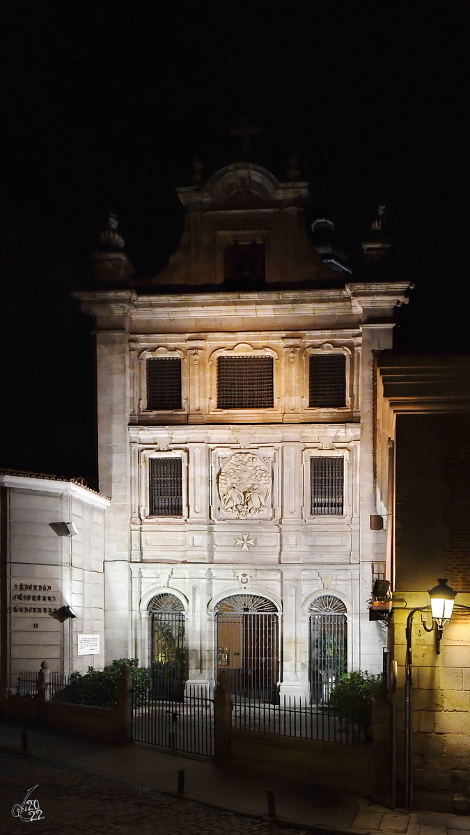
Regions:
<instances>
[{"instance_id":1,"label":"right grilled window in the upper row of three","mask_svg":"<svg viewBox=\"0 0 470 835\"><path fill-rule=\"evenodd\" d=\"M309 406L338 409L345 405L345 354L311 354L309 368Z\"/></svg>"}]
</instances>

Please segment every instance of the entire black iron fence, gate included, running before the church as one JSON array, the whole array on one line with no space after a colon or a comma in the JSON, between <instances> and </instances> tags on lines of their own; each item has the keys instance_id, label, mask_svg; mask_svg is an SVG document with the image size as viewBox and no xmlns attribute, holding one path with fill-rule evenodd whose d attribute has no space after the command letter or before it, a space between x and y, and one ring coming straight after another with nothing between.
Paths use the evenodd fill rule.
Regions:
<instances>
[{"instance_id":1,"label":"entire black iron fence, gate included, running before the church","mask_svg":"<svg viewBox=\"0 0 470 835\"><path fill-rule=\"evenodd\" d=\"M22 671L18 696L37 697L38 673ZM214 691L212 687L176 687L173 676L166 681L161 670L133 681L133 738L135 741L184 751L199 757L214 754ZM64 704L114 708L116 681L59 673L46 674L45 697ZM314 702L299 696L280 698L279 704L243 696L234 697L232 727L262 731L304 740L365 746L371 741L370 711L340 709L329 702Z\"/></svg>"}]
</instances>

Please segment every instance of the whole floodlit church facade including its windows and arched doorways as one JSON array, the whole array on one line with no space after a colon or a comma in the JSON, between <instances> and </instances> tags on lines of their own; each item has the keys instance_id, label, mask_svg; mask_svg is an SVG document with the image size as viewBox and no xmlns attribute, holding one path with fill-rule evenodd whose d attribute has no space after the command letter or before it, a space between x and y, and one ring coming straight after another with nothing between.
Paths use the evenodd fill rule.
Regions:
<instances>
[{"instance_id":1,"label":"whole floodlit church facade including its windows and arched doorways","mask_svg":"<svg viewBox=\"0 0 470 835\"><path fill-rule=\"evenodd\" d=\"M100 288L76 294L111 497L105 663L158 664L172 624L192 684L224 669L245 695L321 699L343 671L381 671L372 369L409 286L325 263L307 185L232 164L179 190L181 245L145 290L114 233Z\"/></svg>"}]
</instances>

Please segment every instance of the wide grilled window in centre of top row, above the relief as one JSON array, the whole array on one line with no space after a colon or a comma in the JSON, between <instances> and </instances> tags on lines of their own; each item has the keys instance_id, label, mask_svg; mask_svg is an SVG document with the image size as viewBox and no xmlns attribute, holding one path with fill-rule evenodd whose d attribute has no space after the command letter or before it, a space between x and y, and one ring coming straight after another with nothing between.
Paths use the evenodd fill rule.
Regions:
<instances>
[{"instance_id":1,"label":"wide grilled window in centre of top row, above the relief","mask_svg":"<svg viewBox=\"0 0 470 835\"><path fill-rule=\"evenodd\" d=\"M273 370L273 357L218 357L217 408L273 408Z\"/></svg>"}]
</instances>

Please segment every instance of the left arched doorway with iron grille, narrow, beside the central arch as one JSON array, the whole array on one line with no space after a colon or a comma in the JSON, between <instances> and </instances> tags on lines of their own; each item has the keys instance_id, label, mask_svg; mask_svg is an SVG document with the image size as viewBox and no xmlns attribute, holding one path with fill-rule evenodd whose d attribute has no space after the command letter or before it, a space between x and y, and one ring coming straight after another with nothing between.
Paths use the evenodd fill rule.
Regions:
<instances>
[{"instance_id":1,"label":"left arched doorway with iron grille, narrow, beside the central arch","mask_svg":"<svg viewBox=\"0 0 470 835\"><path fill-rule=\"evenodd\" d=\"M186 681L185 616L176 595L149 604L151 668L155 699L182 699Z\"/></svg>"}]
</instances>

